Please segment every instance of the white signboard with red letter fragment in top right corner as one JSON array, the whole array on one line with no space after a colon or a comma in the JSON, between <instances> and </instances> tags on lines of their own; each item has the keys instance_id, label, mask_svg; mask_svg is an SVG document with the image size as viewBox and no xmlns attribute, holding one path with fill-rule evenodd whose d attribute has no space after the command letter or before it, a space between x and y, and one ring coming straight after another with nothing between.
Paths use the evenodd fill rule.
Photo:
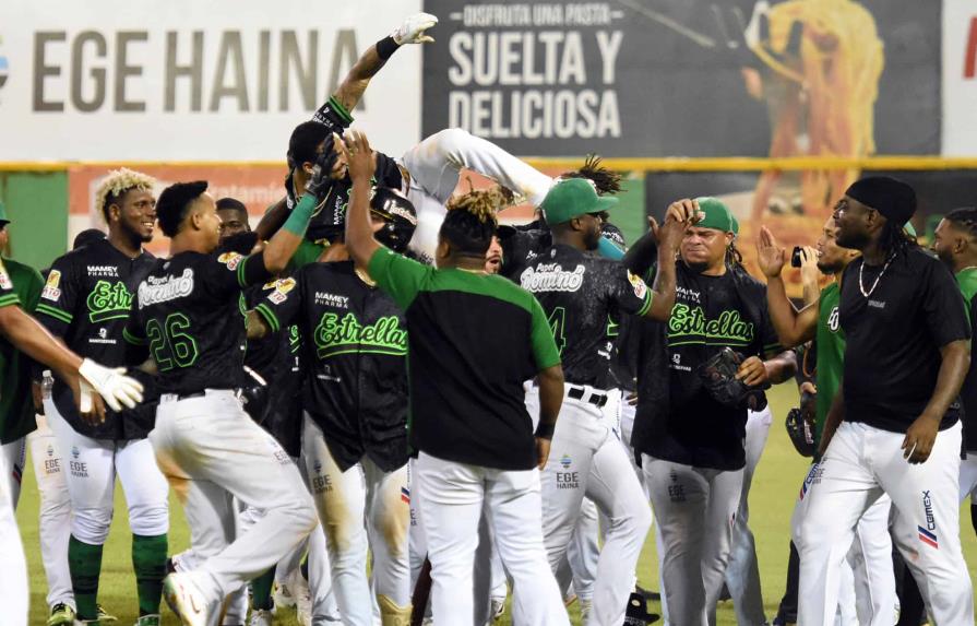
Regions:
<instances>
[{"instance_id":1,"label":"white signboard with red letter fragment in top right corner","mask_svg":"<svg viewBox=\"0 0 977 626\"><path fill-rule=\"evenodd\" d=\"M977 156L977 2L943 2L943 155Z\"/></svg>"}]
</instances>

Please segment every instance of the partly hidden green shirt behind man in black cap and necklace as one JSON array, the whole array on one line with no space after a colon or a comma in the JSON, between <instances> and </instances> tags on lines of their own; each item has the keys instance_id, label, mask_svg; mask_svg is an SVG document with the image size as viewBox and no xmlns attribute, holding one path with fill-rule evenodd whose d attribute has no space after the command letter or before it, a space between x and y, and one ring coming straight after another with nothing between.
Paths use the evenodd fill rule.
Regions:
<instances>
[{"instance_id":1,"label":"partly hidden green shirt behind man in black cap and necklace","mask_svg":"<svg viewBox=\"0 0 977 626\"><path fill-rule=\"evenodd\" d=\"M845 365L845 331L838 321L841 300L838 284L831 283L821 290L818 304L818 369L814 385L818 387L818 405L814 415L814 446L821 445L821 433L834 397L842 385Z\"/></svg>"}]
</instances>

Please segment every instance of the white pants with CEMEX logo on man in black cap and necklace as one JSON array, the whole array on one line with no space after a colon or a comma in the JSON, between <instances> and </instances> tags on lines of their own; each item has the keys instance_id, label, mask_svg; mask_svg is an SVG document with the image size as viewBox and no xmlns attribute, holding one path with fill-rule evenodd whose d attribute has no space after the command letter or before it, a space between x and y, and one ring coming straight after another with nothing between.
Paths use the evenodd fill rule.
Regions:
<instances>
[{"instance_id":1,"label":"white pants with CEMEX logo on man in black cap and necklace","mask_svg":"<svg viewBox=\"0 0 977 626\"><path fill-rule=\"evenodd\" d=\"M938 624L973 624L970 577L960 543L961 425L937 436L925 463L903 458L905 435L844 422L821 462L801 522L798 622L830 624L837 572L859 518L882 494L892 498L893 539Z\"/></svg>"}]
</instances>

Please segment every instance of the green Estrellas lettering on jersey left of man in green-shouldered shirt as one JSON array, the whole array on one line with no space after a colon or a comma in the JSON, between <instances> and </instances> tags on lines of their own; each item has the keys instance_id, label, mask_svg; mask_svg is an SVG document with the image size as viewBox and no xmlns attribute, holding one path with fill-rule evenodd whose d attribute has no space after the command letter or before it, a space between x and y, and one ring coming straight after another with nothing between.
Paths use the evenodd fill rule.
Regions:
<instances>
[{"instance_id":1,"label":"green Estrellas lettering on jersey left of man in green-shouldered shirt","mask_svg":"<svg viewBox=\"0 0 977 626\"><path fill-rule=\"evenodd\" d=\"M362 326L352 312L342 318L327 312L315 327L314 341L315 353L321 359L355 352L407 355L407 331L401 328L395 316Z\"/></svg>"}]
</instances>

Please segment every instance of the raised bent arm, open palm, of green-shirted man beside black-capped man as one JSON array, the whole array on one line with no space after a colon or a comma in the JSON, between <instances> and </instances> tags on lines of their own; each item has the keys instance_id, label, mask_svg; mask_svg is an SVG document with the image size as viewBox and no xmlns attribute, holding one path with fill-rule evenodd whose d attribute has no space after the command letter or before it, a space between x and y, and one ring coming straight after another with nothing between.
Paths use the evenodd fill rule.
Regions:
<instances>
[{"instance_id":1,"label":"raised bent arm, open palm, of green-shirted man beside black-capped man","mask_svg":"<svg viewBox=\"0 0 977 626\"><path fill-rule=\"evenodd\" d=\"M770 319L784 347L794 347L814 338L818 330L818 302L798 311L787 297L787 288L781 272L787 260L787 251L777 245L766 226L760 228L756 239L756 260L766 276L766 300Z\"/></svg>"}]
</instances>

